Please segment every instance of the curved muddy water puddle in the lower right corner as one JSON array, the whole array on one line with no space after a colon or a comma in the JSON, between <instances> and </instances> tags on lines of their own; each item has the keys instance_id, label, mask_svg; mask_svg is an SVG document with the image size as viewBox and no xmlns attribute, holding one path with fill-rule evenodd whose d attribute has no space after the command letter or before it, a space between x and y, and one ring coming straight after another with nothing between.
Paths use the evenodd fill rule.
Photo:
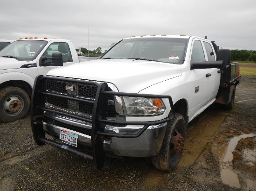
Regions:
<instances>
[{"instance_id":1,"label":"curved muddy water puddle in the lower right corner","mask_svg":"<svg viewBox=\"0 0 256 191\"><path fill-rule=\"evenodd\" d=\"M224 148L219 149L219 158L221 160L221 179L224 184L231 187L241 188L238 175L236 174L236 172L233 171L233 151L235 150L239 140L253 136L255 136L255 134L242 134L240 136L233 137L229 141L228 146L224 146ZM256 161L255 150L251 151L247 149L243 151L243 157L252 162ZM247 179L246 181L250 182L249 179ZM252 184L255 184L255 182L252 182Z\"/></svg>"}]
</instances>

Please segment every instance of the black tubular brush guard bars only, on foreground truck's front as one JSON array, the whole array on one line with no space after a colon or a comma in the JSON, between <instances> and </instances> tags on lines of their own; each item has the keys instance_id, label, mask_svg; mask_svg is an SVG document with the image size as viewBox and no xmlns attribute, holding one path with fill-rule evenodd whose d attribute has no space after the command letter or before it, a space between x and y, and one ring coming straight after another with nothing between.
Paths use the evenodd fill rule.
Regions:
<instances>
[{"instance_id":1,"label":"black tubular brush guard bars only, on foreground truck's front","mask_svg":"<svg viewBox=\"0 0 256 191\"><path fill-rule=\"evenodd\" d=\"M65 95L54 94L50 92L44 91L42 84L44 80L59 80L63 82L69 83L80 83L80 84L89 84L97 87L96 96L94 101L87 100L84 98L78 97L70 97ZM42 103L42 95L59 97L62 99L68 99L77 102L85 102L85 103L93 103L93 113L92 119L86 119L81 116L72 115L70 113L65 113L62 111L52 110L46 107L41 106ZM158 121L114 121L106 119L107 105L108 105L108 96L127 96L127 97L145 97L145 98L161 98L168 99L171 113L167 118L158 120ZM62 146L61 144L49 140L45 138L45 132L43 130L43 120L44 120L44 111L51 112L58 115L63 115L67 117L72 117L77 120L89 122L92 124L91 129L91 145L92 145L92 156L79 152L75 148L68 146ZM84 159L93 160L94 166L98 169L101 169L104 166L104 157L105 153L103 150L103 141L100 136L105 137L118 137L118 138L136 138L139 137L149 126L159 125L168 121L171 121L175 115L175 109L173 105L173 101L171 96L161 96L161 95L153 95L153 94L136 94L136 93L123 93L123 92L113 92L108 91L107 83L96 83L92 81L85 80L77 80L71 78L63 78L63 77L54 77L54 76L37 76L34 83L34 89L32 93L31 100L31 126L32 132L34 136L34 140L37 145L49 144L51 146L55 146L62 150L65 150L69 153L73 153L83 157ZM144 125L141 130L137 134L113 134L113 133L105 133L104 129L106 125Z\"/></svg>"}]
</instances>

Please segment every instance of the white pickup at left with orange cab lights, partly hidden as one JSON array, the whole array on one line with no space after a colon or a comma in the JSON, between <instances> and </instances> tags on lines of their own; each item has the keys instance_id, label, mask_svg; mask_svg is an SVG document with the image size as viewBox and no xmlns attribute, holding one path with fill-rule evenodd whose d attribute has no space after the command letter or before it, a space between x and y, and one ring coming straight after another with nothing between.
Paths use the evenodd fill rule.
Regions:
<instances>
[{"instance_id":1,"label":"white pickup at left with orange cab lights, partly hidden","mask_svg":"<svg viewBox=\"0 0 256 191\"><path fill-rule=\"evenodd\" d=\"M74 45L65 39L20 39L0 51L0 121L15 121L27 114L35 77L56 67L53 62L61 57L53 61L52 55L58 52L64 66L80 62Z\"/></svg>"}]
</instances>

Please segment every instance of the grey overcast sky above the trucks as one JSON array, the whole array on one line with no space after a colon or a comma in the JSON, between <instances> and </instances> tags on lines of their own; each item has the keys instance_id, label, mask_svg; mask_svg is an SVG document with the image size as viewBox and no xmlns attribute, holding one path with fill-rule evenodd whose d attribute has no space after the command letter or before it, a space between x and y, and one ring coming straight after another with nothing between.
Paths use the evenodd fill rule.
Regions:
<instances>
[{"instance_id":1,"label":"grey overcast sky above the trucks","mask_svg":"<svg viewBox=\"0 0 256 191\"><path fill-rule=\"evenodd\" d=\"M256 0L0 0L0 39L58 37L104 52L130 36L182 33L256 50Z\"/></svg>"}]
</instances>

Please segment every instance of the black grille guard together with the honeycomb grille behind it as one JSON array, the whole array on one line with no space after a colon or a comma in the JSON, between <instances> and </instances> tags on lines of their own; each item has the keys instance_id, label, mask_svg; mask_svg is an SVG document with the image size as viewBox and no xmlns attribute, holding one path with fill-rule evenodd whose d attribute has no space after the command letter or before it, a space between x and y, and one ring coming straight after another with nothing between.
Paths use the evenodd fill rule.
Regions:
<instances>
[{"instance_id":1,"label":"black grille guard together with the honeycomb grille behind it","mask_svg":"<svg viewBox=\"0 0 256 191\"><path fill-rule=\"evenodd\" d=\"M47 84L52 84L56 87L51 89ZM81 91L84 91L83 94L78 92L78 86ZM58 91L56 91L56 89ZM85 89L89 90L90 93L85 92ZM72 90L72 93L70 93L70 90ZM168 99L171 107L171 113L167 118L158 121L109 120L106 119L109 96L154 97ZM57 106L53 106L53 104L48 102L54 102ZM71 102L75 104L73 104L73 108L69 110L69 103ZM89 107L89 109L87 107ZM80 112L80 110L83 112ZM71 146L61 145L54 140L45 138L45 132L43 130L44 111L91 123L92 156L80 152ZM139 137L149 126L171 121L174 115L175 109L171 96L113 92L109 91L107 83L97 83L93 81L64 77L37 76L31 100L31 127L36 144L49 144L69 153L81 156L84 159L92 160L94 162L94 166L98 169L103 168L105 158L103 141L100 137L136 138ZM137 134L114 134L104 132L106 125L143 125L144 127L142 127Z\"/></svg>"}]
</instances>

